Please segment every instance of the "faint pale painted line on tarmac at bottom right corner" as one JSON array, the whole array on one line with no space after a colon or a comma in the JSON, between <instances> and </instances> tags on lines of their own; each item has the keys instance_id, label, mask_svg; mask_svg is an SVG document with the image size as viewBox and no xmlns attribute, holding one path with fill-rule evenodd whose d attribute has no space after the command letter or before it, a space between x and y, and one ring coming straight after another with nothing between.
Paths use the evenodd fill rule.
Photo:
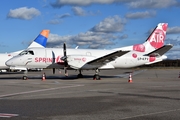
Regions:
<instances>
[{"instance_id":1,"label":"faint pale painted line on tarmac at bottom right corner","mask_svg":"<svg viewBox=\"0 0 180 120\"><path fill-rule=\"evenodd\" d=\"M120 120L132 119L132 118L137 118L137 117L144 117L144 116L149 116L149 115L157 115L157 114L163 114L163 113L169 113L169 112L176 112L176 111L180 111L180 109L154 112L154 113L148 113L148 114L141 114L141 115L135 115L135 116L131 116L131 117L124 117L124 118L121 118Z\"/></svg>"}]
</instances>

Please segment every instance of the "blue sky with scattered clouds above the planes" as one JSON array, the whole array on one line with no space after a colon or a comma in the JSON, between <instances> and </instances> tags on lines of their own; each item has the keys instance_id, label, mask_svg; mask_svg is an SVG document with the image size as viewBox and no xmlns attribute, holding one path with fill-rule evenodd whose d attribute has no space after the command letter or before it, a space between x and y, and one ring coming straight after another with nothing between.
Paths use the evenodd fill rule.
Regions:
<instances>
[{"instance_id":1,"label":"blue sky with scattered clouds above the planes","mask_svg":"<svg viewBox=\"0 0 180 120\"><path fill-rule=\"evenodd\" d=\"M143 43L168 23L168 58L180 58L179 0L1 0L0 52L27 48L49 29L47 47L112 49Z\"/></svg>"}]
</instances>

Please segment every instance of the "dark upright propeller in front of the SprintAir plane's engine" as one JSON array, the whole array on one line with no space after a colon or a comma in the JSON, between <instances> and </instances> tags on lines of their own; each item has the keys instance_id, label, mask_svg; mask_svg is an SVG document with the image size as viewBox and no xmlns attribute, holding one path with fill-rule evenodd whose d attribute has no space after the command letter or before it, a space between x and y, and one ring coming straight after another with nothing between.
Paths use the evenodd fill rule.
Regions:
<instances>
[{"instance_id":1,"label":"dark upright propeller in front of the SprintAir plane's engine","mask_svg":"<svg viewBox=\"0 0 180 120\"><path fill-rule=\"evenodd\" d=\"M61 60L64 61L65 75L68 76L68 73L67 73L68 62L67 62L67 55L66 55L66 43L63 44L63 54L64 54L64 56L61 58Z\"/></svg>"}]
</instances>

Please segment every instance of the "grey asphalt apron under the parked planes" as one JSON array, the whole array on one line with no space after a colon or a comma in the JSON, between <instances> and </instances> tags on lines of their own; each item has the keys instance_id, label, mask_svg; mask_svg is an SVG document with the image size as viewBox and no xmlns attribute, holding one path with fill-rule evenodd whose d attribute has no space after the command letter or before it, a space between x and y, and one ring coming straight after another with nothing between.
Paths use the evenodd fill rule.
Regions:
<instances>
[{"instance_id":1,"label":"grey asphalt apron under the parked planes","mask_svg":"<svg viewBox=\"0 0 180 120\"><path fill-rule=\"evenodd\" d=\"M177 120L180 69L0 73L0 119ZM132 83L129 73L132 72ZM42 74L46 79L42 80Z\"/></svg>"}]
</instances>

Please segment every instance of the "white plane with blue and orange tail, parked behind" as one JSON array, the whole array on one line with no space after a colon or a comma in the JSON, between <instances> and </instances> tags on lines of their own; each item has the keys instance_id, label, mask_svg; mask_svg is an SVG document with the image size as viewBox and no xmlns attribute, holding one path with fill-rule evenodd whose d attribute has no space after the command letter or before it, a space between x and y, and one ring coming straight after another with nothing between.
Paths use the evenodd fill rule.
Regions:
<instances>
[{"instance_id":1,"label":"white plane with blue and orange tail, parked behind","mask_svg":"<svg viewBox=\"0 0 180 120\"><path fill-rule=\"evenodd\" d=\"M44 48L46 47L47 38L49 36L49 30L42 30L41 33L34 39L34 41L31 42L31 44L28 46L28 48L37 47L37 48ZM9 69L8 66L6 66L5 62L12 58L13 56L18 55L23 50L19 50L16 52L11 53L0 53L0 70L6 70ZM13 69L13 68L12 68ZM24 70L24 68L14 68L14 70Z\"/></svg>"}]
</instances>

